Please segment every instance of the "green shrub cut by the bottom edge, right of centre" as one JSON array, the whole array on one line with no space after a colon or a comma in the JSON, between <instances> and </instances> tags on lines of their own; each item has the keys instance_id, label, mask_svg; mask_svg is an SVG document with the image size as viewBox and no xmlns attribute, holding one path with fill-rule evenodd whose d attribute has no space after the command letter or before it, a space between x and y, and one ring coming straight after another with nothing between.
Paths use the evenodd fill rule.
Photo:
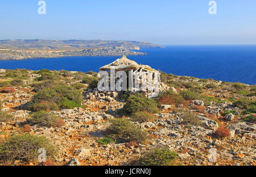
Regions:
<instances>
[{"instance_id":1,"label":"green shrub cut by the bottom edge, right of centre","mask_svg":"<svg viewBox=\"0 0 256 177\"><path fill-rule=\"evenodd\" d=\"M171 151L168 147L157 147L149 151L141 159L143 166L170 166L173 165L174 159L177 157L175 151Z\"/></svg>"}]
</instances>

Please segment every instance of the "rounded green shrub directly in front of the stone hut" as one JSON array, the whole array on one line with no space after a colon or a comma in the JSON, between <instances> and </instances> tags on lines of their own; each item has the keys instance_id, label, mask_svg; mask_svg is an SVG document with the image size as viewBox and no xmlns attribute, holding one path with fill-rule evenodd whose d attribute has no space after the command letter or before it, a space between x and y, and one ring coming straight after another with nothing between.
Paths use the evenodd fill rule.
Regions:
<instances>
[{"instance_id":1,"label":"rounded green shrub directly in front of the stone hut","mask_svg":"<svg viewBox=\"0 0 256 177\"><path fill-rule=\"evenodd\" d=\"M158 112L156 108L156 102L151 98L143 96L142 94L130 95L122 110L127 113L136 113L139 111L147 111L153 113Z\"/></svg>"}]
</instances>

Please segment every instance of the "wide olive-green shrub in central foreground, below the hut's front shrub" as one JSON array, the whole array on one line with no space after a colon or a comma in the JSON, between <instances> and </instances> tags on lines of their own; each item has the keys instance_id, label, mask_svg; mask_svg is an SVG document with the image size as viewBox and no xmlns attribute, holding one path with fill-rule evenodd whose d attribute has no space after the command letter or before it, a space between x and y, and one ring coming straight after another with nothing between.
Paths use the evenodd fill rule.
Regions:
<instances>
[{"instance_id":1,"label":"wide olive-green shrub in central foreground, below the hut's front shrub","mask_svg":"<svg viewBox=\"0 0 256 177\"><path fill-rule=\"evenodd\" d=\"M113 134L118 134L127 142L135 141L143 144L148 138L147 133L141 128L137 127L135 124L131 123L130 120L111 119L110 123L110 131Z\"/></svg>"}]
</instances>

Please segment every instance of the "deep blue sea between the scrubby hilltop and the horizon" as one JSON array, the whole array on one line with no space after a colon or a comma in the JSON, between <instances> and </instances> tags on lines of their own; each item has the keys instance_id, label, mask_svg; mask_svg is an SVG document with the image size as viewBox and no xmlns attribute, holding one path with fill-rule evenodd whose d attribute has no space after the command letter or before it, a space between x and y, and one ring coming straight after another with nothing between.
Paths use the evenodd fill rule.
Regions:
<instances>
[{"instance_id":1,"label":"deep blue sea between the scrubby hilltop and the horizon","mask_svg":"<svg viewBox=\"0 0 256 177\"><path fill-rule=\"evenodd\" d=\"M227 82L256 83L256 45L179 45L142 49L146 56L127 56L166 73ZM1 69L96 71L115 57L61 57L0 61Z\"/></svg>"}]
</instances>

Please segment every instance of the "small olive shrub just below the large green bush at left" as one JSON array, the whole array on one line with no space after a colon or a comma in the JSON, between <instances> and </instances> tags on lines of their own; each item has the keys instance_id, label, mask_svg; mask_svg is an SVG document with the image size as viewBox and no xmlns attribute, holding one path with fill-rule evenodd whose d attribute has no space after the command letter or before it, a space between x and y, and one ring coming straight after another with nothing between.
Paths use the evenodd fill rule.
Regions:
<instances>
[{"instance_id":1,"label":"small olive shrub just below the large green bush at left","mask_svg":"<svg viewBox=\"0 0 256 177\"><path fill-rule=\"evenodd\" d=\"M46 111L35 112L31 115L31 121L42 127L55 127L58 117Z\"/></svg>"}]
</instances>

